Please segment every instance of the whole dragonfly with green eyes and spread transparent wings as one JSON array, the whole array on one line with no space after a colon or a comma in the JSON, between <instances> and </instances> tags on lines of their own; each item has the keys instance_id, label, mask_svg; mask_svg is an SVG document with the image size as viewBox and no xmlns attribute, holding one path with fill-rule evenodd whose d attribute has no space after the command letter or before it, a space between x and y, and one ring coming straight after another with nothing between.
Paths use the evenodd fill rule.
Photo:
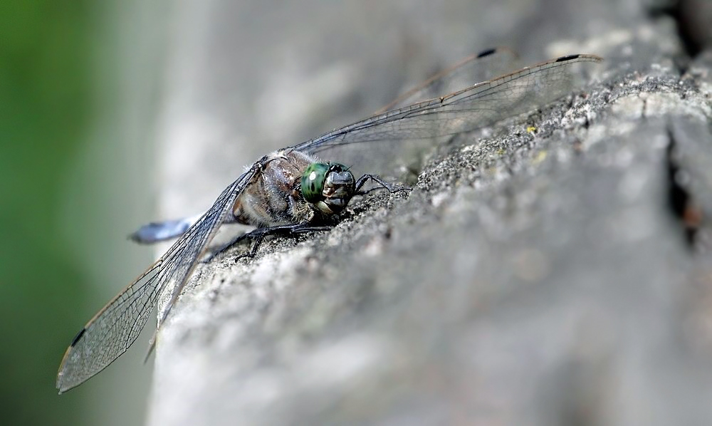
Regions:
<instances>
[{"instance_id":1,"label":"whole dragonfly with green eyes and spread transparent wings","mask_svg":"<svg viewBox=\"0 0 712 426\"><path fill-rule=\"evenodd\" d=\"M150 341L153 348L222 224L254 227L231 241L253 240L248 256L269 235L326 231L353 197L372 189L409 189L381 177L406 152L547 105L570 93L577 64L602 61L600 56L575 54L502 73L514 57L506 48L495 48L466 58L369 118L261 157L203 214L156 222L132 234L140 242L176 241L73 338L59 367L59 393L84 383L125 353L145 327L159 296L172 289L158 316Z\"/></svg>"}]
</instances>

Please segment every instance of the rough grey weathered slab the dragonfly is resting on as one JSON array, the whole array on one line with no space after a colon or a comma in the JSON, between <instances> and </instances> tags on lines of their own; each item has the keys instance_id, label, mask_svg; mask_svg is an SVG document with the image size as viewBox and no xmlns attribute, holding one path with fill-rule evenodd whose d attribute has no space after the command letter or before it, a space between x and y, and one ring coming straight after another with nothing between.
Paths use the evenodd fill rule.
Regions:
<instances>
[{"instance_id":1,"label":"rough grey weathered slab the dragonfly is resting on","mask_svg":"<svg viewBox=\"0 0 712 426\"><path fill-rule=\"evenodd\" d=\"M199 267L160 334L151 425L708 423L712 61L674 19L635 2L252 3L179 8L163 217L459 53L607 61L434 147L410 194Z\"/></svg>"}]
</instances>

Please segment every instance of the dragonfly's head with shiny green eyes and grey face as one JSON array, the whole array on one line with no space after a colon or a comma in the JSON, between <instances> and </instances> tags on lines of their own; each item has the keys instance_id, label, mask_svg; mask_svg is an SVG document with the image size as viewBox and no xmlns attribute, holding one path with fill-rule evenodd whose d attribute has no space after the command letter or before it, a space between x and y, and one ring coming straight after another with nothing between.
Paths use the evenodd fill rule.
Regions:
<instances>
[{"instance_id":1,"label":"dragonfly's head with shiny green eyes and grey face","mask_svg":"<svg viewBox=\"0 0 712 426\"><path fill-rule=\"evenodd\" d=\"M311 163L301 180L302 197L325 214L341 212L356 191L354 175L337 162Z\"/></svg>"}]
</instances>

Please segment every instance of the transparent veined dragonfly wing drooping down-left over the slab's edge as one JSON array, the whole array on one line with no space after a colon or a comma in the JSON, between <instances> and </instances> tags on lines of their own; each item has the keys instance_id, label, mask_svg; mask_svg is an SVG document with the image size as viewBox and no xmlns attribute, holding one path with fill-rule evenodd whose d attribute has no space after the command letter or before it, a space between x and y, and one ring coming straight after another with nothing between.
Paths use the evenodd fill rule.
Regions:
<instances>
[{"instance_id":1,"label":"transparent veined dragonfly wing drooping down-left over the slab's edge","mask_svg":"<svg viewBox=\"0 0 712 426\"><path fill-rule=\"evenodd\" d=\"M213 206L155 264L117 294L77 334L59 367L57 388L60 393L80 385L124 353L146 325L163 289L169 282L174 282L172 296L159 323L162 322L206 245L255 170L252 167L227 187Z\"/></svg>"}]
</instances>

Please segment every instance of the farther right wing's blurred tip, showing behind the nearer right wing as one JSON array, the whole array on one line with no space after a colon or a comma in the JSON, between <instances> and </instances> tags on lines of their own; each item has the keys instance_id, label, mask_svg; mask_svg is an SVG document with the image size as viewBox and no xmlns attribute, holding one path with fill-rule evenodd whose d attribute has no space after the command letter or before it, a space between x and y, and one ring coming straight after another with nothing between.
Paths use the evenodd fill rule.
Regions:
<instances>
[{"instance_id":1,"label":"farther right wing's blurred tip, showing behind the nearer right wing","mask_svg":"<svg viewBox=\"0 0 712 426\"><path fill-rule=\"evenodd\" d=\"M516 59L517 54L504 47L491 48L468 56L403 93L392 103L377 111L376 114L436 98L443 93L451 93L473 83L515 71Z\"/></svg>"}]
</instances>

